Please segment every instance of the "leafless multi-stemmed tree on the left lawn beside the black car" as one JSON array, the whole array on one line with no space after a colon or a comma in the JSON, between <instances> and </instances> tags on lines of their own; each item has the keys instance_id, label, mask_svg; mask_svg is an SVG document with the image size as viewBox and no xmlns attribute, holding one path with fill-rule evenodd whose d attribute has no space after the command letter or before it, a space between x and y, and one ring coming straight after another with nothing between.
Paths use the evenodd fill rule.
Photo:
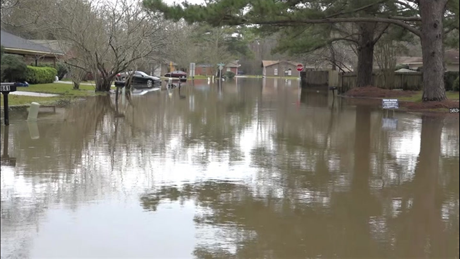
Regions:
<instances>
[{"instance_id":1,"label":"leafless multi-stemmed tree on the left lawn beside the black car","mask_svg":"<svg viewBox=\"0 0 460 259\"><path fill-rule=\"evenodd\" d=\"M109 91L134 62L160 56L170 31L162 18L128 0L65 0L43 28L77 53L67 64L91 71L96 91Z\"/></svg>"}]
</instances>

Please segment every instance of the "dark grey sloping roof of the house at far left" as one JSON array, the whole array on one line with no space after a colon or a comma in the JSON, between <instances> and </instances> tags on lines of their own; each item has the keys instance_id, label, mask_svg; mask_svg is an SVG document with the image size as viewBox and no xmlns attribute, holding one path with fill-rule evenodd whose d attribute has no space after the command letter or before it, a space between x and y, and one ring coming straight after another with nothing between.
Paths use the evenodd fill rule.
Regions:
<instances>
[{"instance_id":1,"label":"dark grey sloping roof of the house at far left","mask_svg":"<svg viewBox=\"0 0 460 259\"><path fill-rule=\"evenodd\" d=\"M0 44L7 53L23 55L62 55L63 53L1 30Z\"/></svg>"}]
</instances>

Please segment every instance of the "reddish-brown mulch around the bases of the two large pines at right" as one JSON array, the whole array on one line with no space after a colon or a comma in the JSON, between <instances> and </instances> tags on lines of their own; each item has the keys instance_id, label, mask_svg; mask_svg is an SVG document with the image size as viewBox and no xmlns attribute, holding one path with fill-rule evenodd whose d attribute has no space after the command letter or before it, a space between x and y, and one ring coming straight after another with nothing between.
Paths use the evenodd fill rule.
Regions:
<instances>
[{"instance_id":1,"label":"reddish-brown mulch around the bases of the two large pines at right","mask_svg":"<svg viewBox=\"0 0 460 259\"><path fill-rule=\"evenodd\" d=\"M388 90L377 87L359 87L353 88L346 92L344 95L347 97L360 97L360 98L369 98L368 104L380 104L380 98L392 98L392 97L402 97L402 96L412 96L417 94L416 91L400 91L400 90ZM366 101L359 101L359 103ZM443 100L443 101L430 101L430 102L413 102L413 101L403 101L399 102L399 106L403 107L406 110L410 111L431 111L439 110L438 112L445 112L449 108L459 108L459 102L453 100Z\"/></svg>"}]
</instances>

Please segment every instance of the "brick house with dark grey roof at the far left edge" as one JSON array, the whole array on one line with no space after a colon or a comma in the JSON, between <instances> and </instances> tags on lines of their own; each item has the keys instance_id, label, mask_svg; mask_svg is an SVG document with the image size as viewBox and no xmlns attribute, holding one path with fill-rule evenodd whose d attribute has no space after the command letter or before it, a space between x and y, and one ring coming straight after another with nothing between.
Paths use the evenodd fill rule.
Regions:
<instances>
[{"instance_id":1,"label":"brick house with dark grey roof at the far left edge","mask_svg":"<svg viewBox=\"0 0 460 259\"><path fill-rule=\"evenodd\" d=\"M30 65L38 65L38 62L56 65L57 57L64 54L45 45L12 35L4 30L1 30L0 45L3 46L5 53L21 55L25 58L26 63Z\"/></svg>"}]
</instances>

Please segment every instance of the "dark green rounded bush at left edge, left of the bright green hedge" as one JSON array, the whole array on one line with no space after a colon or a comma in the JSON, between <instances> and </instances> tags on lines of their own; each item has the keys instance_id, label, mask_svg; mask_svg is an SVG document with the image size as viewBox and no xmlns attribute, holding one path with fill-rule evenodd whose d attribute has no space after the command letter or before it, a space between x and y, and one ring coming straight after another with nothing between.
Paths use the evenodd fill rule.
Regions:
<instances>
[{"instance_id":1,"label":"dark green rounded bush at left edge, left of the bright green hedge","mask_svg":"<svg viewBox=\"0 0 460 259\"><path fill-rule=\"evenodd\" d=\"M1 57L1 81L18 82L26 78L27 65L24 58L14 54L3 54Z\"/></svg>"}]
</instances>

